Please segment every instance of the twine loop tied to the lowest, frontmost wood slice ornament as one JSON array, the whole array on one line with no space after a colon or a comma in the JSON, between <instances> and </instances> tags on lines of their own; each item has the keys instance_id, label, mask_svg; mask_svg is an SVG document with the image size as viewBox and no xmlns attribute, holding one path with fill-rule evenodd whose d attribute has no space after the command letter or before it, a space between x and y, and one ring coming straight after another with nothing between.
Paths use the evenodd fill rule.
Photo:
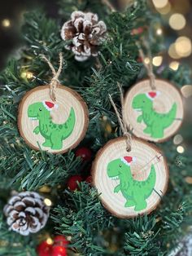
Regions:
<instances>
[{"instance_id":1,"label":"twine loop tied to the lowest, frontmost wood slice ornament","mask_svg":"<svg viewBox=\"0 0 192 256\"><path fill-rule=\"evenodd\" d=\"M131 133L126 125L125 119L124 119L124 95L123 95L123 90L122 86L117 83L119 89L120 89L120 104L121 104L121 114L116 108L116 104L113 101L111 95L109 95L109 99L111 101L111 105L113 106L115 112L116 112L116 117L119 121L120 124L120 129L122 130L123 135L126 137L126 150L129 152L131 151Z\"/></svg>"}]
</instances>

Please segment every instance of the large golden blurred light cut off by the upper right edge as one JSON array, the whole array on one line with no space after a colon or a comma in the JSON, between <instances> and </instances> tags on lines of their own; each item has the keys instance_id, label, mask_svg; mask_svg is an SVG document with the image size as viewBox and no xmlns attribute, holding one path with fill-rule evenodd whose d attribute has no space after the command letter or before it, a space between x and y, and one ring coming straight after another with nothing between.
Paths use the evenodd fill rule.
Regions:
<instances>
[{"instance_id":1,"label":"large golden blurred light cut off by the upper right edge","mask_svg":"<svg viewBox=\"0 0 192 256\"><path fill-rule=\"evenodd\" d=\"M186 38L186 37L177 38L175 42L175 50L177 52L177 55L181 57L190 56L192 52L190 38Z\"/></svg>"}]
</instances>

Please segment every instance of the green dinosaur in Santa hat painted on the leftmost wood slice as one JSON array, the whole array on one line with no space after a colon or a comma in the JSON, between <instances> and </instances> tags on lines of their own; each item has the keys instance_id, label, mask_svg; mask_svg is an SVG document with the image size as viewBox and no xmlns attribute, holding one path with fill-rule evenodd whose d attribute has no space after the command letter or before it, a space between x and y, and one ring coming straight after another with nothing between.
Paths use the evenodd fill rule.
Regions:
<instances>
[{"instance_id":1,"label":"green dinosaur in Santa hat painted on the leftmost wood slice","mask_svg":"<svg viewBox=\"0 0 192 256\"><path fill-rule=\"evenodd\" d=\"M57 108L57 105L49 102L37 102L28 106L28 117L39 121L39 125L33 130L33 133L41 134L45 138L42 143L44 147L59 150L63 148L63 139L68 138L74 129L76 116L74 109L68 116L68 120L63 124L55 124L50 117L50 111Z\"/></svg>"}]
</instances>

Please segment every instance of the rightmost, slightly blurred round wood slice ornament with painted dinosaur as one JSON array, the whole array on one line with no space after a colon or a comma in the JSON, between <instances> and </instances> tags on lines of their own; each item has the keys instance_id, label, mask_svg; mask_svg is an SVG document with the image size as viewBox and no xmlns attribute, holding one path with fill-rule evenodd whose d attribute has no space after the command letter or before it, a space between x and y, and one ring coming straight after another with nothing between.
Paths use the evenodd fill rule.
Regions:
<instances>
[{"instance_id":1,"label":"rightmost, slightly blurred round wood slice ornament with painted dinosaur","mask_svg":"<svg viewBox=\"0 0 192 256\"><path fill-rule=\"evenodd\" d=\"M162 79L137 82L125 95L124 119L133 135L154 142L164 142L181 127L184 107L181 92Z\"/></svg>"}]
</instances>

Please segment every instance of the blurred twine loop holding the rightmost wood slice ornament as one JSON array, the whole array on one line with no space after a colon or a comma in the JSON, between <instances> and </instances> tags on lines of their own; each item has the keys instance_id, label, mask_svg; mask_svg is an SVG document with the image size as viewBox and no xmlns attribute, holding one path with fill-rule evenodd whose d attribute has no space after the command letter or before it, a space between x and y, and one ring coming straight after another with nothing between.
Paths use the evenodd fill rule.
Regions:
<instances>
[{"instance_id":1,"label":"blurred twine loop holding the rightmost wood slice ornament","mask_svg":"<svg viewBox=\"0 0 192 256\"><path fill-rule=\"evenodd\" d=\"M149 45L146 42L146 40L143 40L143 45L146 47L146 49L148 50L147 54L149 56L149 63L146 63L146 55L144 54L144 52L142 51L142 47L140 45L139 42L136 42L137 48L138 48L138 52L139 55L142 58L142 63L144 64L145 68L146 68L146 72L148 74L148 76L150 77L150 86L151 86L151 90L155 90L155 74L153 73L153 65L152 65L152 56L151 56L151 51L149 50Z\"/></svg>"}]
</instances>

